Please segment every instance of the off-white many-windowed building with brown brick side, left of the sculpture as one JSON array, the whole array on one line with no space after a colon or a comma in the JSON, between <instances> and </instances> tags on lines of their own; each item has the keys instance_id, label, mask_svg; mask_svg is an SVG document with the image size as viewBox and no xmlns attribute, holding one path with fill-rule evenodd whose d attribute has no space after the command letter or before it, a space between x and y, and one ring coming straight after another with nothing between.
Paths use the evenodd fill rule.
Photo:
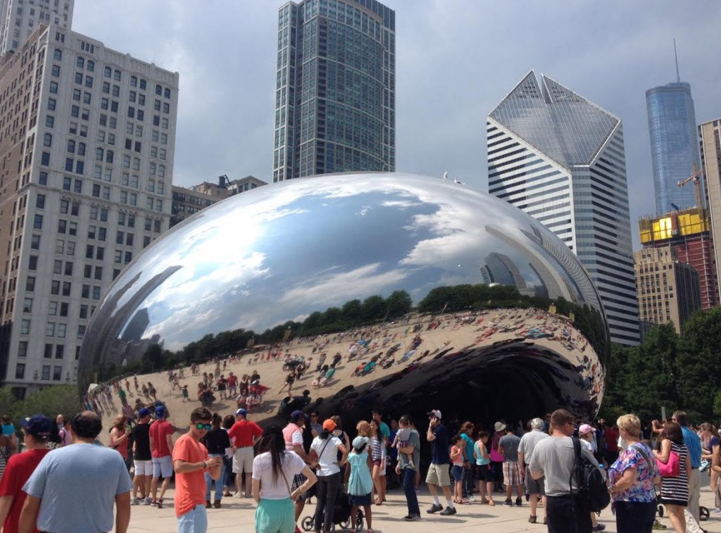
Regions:
<instances>
[{"instance_id":1,"label":"off-white many-windowed building with brown brick side, left of the sculpture","mask_svg":"<svg viewBox=\"0 0 721 533\"><path fill-rule=\"evenodd\" d=\"M178 74L58 25L0 66L0 376L74 382L88 320L169 227Z\"/></svg>"}]
</instances>

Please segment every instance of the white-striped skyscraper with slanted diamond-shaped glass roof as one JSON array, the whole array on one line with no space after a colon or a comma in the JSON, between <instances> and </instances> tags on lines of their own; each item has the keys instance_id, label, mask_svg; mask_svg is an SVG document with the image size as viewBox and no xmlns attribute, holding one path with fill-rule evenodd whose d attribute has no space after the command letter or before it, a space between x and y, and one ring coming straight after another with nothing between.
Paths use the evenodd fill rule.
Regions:
<instances>
[{"instance_id":1,"label":"white-striped skyscraper with slanted diamond-shaped glass roof","mask_svg":"<svg viewBox=\"0 0 721 533\"><path fill-rule=\"evenodd\" d=\"M622 122L534 71L490 113L488 186L541 221L590 274L611 340L639 343Z\"/></svg>"}]
</instances>

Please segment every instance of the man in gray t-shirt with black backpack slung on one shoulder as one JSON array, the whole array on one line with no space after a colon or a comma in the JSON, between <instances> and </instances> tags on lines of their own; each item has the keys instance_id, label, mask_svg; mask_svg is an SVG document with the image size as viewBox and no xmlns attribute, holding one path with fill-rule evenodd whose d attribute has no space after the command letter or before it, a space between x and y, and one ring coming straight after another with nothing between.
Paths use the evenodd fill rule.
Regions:
<instances>
[{"instance_id":1,"label":"man in gray t-shirt with black backpack slung on one shoulder","mask_svg":"<svg viewBox=\"0 0 721 533\"><path fill-rule=\"evenodd\" d=\"M590 533L590 510L580 498L570 495L569 480L575 461L571 439L575 430L573 415L565 409L555 410L551 415L551 428L551 437L536 444L528 463L534 479L545 475L548 529L559 533ZM580 451L598 466L588 448L580 446Z\"/></svg>"}]
</instances>

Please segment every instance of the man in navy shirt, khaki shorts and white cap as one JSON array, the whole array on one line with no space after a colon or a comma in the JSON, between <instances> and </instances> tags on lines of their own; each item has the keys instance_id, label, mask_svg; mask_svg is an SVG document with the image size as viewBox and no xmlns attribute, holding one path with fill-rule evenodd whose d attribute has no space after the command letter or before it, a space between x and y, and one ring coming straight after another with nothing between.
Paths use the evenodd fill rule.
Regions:
<instances>
[{"instance_id":1,"label":"man in navy shirt, khaki shorts and white cap","mask_svg":"<svg viewBox=\"0 0 721 533\"><path fill-rule=\"evenodd\" d=\"M451 476L448 472L451 463L451 457L448 455L448 432L446 427L441 424L441 411L430 411L428 418L430 418L430 423L425 438L430 442L430 466L425 483L428 485L430 495L433 496L433 505L427 512L433 514L441 511L443 516L448 516L456 514L456 508L451 498ZM438 499L438 487L443 489L443 495L446 496L448 505L445 509Z\"/></svg>"}]
</instances>

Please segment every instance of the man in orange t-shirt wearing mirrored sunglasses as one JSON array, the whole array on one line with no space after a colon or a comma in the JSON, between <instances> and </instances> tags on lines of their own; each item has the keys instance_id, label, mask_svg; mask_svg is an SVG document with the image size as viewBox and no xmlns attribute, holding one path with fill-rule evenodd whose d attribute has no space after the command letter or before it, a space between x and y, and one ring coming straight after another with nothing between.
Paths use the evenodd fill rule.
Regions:
<instances>
[{"instance_id":1,"label":"man in orange t-shirt wearing mirrored sunglasses","mask_svg":"<svg viewBox=\"0 0 721 533\"><path fill-rule=\"evenodd\" d=\"M190 413L190 431L177 439L173 446L178 533L205 533L208 530L205 472L213 480L221 475L221 457L208 457L208 450L200 444L200 439L211 429L211 418L211 412L206 408L193 410Z\"/></svg>"}]
</instances>

